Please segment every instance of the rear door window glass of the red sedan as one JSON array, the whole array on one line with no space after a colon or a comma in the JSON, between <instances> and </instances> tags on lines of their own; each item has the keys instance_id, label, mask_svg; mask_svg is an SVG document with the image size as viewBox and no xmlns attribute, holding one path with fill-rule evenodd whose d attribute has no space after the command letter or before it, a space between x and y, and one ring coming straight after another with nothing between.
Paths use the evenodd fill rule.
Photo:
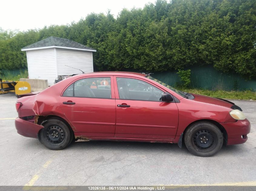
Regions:
<instances>
[{"instance_id":1,"label":"rear door window glass of the red sedan","mask_svg":"<svg viewBox=\"0 0 256 191\"><path fill-rule=\"evenodd\" d=\"M63 96L111 98L110 77L78 80L65 90Z\"/></svg>"}]
</instances>

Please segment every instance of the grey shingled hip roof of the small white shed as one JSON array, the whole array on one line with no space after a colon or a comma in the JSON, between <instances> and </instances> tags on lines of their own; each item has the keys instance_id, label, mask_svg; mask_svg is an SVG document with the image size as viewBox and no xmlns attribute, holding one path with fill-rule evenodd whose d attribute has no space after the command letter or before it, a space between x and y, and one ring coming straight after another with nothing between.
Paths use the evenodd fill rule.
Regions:
<instances>
[{"instance_id":1,"label":"grey shingled hip roof of the small white shed","mask_svg":"<svg viewBox=\"0 0 256 191\"><path fill-rule=\"evenodd\" d=\"M65 39L65 38L58 38L58 37L48 37L46 39L40 40L36 43L31 45L25 46L22 49L28 48L38 48L38 47L45 47L45 46L63 46L63 47L70 47L70 48L80 48L80 49L89 49L95 50L83 44L77 43L75 41Z\"/></svg>"}]
</instances>

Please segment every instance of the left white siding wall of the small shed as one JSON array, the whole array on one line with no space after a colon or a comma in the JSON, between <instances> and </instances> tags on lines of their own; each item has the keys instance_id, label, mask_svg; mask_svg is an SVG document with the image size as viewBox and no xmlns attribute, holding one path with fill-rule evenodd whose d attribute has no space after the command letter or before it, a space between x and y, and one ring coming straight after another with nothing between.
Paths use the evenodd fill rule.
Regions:
<instances>
[{"instance_id":1,"label":"left white siding wall of the small shed","mask_svg":"<svg viewBox=\"0 0 256 191\"><path fill-rule=\"evenodd\" d=\"M27 51L29 78L48 80L53 85L57 77L55 59L54 48Z\"/></svg>"}]
</instances>

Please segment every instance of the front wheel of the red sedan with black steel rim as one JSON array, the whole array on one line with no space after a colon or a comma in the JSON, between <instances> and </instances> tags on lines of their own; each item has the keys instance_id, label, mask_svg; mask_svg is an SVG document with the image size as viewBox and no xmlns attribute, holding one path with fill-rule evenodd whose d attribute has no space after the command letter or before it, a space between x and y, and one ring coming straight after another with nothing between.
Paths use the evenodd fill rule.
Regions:
<instances>
[{"instance_id":1,"label":"front wheel of the red sedan with black steel rim","mask_svg":"<svg viewBox=\"0 0 256 191\"><path fill-rule=\"evenodd\" d=\"M213 123L198 122L185 131L184 142L192 154L210 157L221 149L223 134Z\"/></svg>"}]
</instances>

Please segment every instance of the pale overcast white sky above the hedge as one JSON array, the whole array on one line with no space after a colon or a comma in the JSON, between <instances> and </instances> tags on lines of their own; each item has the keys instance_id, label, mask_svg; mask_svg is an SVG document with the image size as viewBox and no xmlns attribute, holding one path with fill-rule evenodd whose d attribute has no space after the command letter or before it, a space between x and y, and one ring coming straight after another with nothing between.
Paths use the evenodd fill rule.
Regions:
<instances>
[{"instance_id":1,"label":"pale overcast white sky above the hedge","mask_svg":"<svg viewBox=\"0 0 256 191\"><path fill-rule=\"evenodd\" d=\"M123 8L143 8L150 2L155 0L5 0L1 2L0 27L26 31L52 24L70 24L91 12L106 14L108 9L116 18Z\"/></svg>"}]
</instances>

